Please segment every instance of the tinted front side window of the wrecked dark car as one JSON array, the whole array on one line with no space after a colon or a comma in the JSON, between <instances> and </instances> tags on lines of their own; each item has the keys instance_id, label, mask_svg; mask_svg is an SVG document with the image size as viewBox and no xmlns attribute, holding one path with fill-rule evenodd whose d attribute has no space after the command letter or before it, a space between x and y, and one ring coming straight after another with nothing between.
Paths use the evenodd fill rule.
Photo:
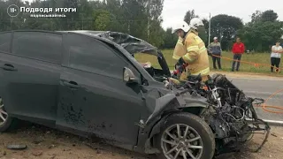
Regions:
<instances>
[{"instance_id":1,"label":"tinted front side window of the wrecked dark car","mask_svg":"<svg viewBox=\"0 0 283 159\"><path fill-rule=\"evenodd\" d=\"M68 34L67 43L70 67L122 79L127 64L106 43L80 34Z\"/></svg>"}]
</instances>

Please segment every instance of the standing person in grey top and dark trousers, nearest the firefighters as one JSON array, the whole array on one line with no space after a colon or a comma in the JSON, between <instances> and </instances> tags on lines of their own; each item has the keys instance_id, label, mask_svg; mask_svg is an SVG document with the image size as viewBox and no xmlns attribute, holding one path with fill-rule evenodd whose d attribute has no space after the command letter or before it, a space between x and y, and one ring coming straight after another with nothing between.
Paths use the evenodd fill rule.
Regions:
<instances>
[{"instance_id":1,"label":"standing person in grey top and dark trousers, nearest the firefighters","mask_svg":"<svg viewBox=\"0 0 283 159\"><path fill-rule=\"evenodd\" d=\"M214 37L213 38L214 42L210 43L209 46L209 51L212 54L212 61L213 61L213 68L217 69L216 67L216 61L218 62L218 69L222 69L221 68L221 53L222 53L222 49L221 49L221 44L220 42L218 42L218 37ZM217 56L217 57L215 57Z\"/></svg>"}]
</instances>

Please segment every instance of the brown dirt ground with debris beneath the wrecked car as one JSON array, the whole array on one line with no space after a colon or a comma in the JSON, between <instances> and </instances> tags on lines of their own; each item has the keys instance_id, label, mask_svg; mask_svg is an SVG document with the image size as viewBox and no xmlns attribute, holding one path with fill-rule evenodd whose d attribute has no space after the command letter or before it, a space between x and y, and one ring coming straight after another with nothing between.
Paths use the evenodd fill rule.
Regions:
<instances>
[{"instance_id":1,"label":"brown dirt ground with debris beneath the wrecked car","mask_svg":"<svg viewBox=\"0 0 283 159\"><path fill-rule=\"evenodd\" d=\"M258 146L263 135L255 135L245 148ZM8 149L8 145L27 145L23 150ZM283 128L272 127L272 135L259 153L242 150L219 156L218 159L282 159ZM62 133L39 125L24 126L12 133L0 134L1 159L147 159L154 156L140 155L124 149L113 148L99 141L90 141L69 133Z\"/></svg>"}]
</instances>

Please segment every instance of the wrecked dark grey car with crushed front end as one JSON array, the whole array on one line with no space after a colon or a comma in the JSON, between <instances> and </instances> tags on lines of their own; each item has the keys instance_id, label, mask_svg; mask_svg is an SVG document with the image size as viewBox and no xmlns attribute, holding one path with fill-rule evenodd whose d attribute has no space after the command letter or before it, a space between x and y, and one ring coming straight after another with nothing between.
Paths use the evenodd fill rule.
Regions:
<instances>
[{"instance_id":1,"label":"wrecked dark grey car with crushed front end","mask_svg":"<svg viewBox=\"0 0 283 159\"><path fill-rule=\"evenodd\" d=\"M143 68L137 52L162 69ZM127 34L0 33L0 67L0 132L22 119L170 159L210 159L231 141L209 97L164 87L162 53Z\"/></svg>"}]
</instances>

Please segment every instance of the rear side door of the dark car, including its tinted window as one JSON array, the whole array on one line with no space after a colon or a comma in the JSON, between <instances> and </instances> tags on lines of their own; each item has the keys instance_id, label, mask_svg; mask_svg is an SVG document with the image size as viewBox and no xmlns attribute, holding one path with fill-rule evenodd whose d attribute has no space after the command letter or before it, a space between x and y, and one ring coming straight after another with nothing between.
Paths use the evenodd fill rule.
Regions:
<instances>
[{"instance_id":1,"label":"rear side door of the dark car, including its tinted window","mask_svg":"<svg viewBox=\"0 0 283 159\"><path fill-rule=\"evenodd\" d=\"M55 125L62 34L14 32L11 46L0 57L5 109L13 116Z\"/></svg>"}]
</instances>

